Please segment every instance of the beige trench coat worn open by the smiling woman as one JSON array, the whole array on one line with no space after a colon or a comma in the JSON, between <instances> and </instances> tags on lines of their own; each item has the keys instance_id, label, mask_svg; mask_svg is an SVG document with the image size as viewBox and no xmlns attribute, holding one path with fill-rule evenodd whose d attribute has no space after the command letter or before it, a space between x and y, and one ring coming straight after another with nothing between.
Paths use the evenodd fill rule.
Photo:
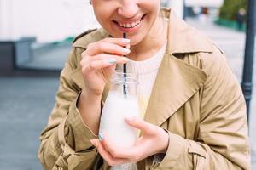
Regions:
<instances>
[{"instance_id":1,"label":"beige trench coat worn open by the smiling woman","mask_svg":"<svg viewBox=\"0 0 256 170\"><path fill-rule=\"evenodd\" d=\"M137 162L137 168L250 169L246 105L224 54L169 9L163 14L170 23L167 49L144 119L169 132L169 146L161 162L153 163L150 156ZM81 54L90 42L104 37L108 33L99 29L73 42L40 138L38 157L44 169L109 169L90 144L97 136L83 124L76 107L84 88ZM108 87L102 100L107 94Z\"/></svg>"}]
</instances>

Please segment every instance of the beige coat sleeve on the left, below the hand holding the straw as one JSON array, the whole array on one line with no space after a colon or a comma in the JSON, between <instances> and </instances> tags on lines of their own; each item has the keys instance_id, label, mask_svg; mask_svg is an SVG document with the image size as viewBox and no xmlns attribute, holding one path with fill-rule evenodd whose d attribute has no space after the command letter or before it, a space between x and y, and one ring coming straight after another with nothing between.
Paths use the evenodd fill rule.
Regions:
<instances>
[{"instance_id":1,"label":"beige coat sleeve on the left, below the hand holding the straw","mask_svg":"<svg viewBox=\"0 0 256 170\"><path fill-rule=\"evenodd\" d=\"M90 139L97 136L84 125L76 107L79 88L70 78L77 68L76 56L73 48L61 71L55 107L40 137L38 158L45 170L91 169L91 165L99 158L96 148L90 144Z\"/></svg>"}]
</instances>

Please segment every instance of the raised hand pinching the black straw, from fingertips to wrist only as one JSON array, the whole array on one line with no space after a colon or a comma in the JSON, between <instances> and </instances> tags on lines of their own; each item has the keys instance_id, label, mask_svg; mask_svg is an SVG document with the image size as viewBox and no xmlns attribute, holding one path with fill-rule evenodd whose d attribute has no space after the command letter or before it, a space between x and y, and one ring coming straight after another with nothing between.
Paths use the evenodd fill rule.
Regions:
<instances>
[{"instance_id":1,"label":"raised hand pinching the black straw, from fingertips to wrist only","mask_svg":"<svg viewBox=\"0 0 256 170\"><path fill-rule=\"evenodd\" d=\"M129 59L122 57L130 53L124 48L130 45L129 39L105 38L90 43L82 54L80 65L84 77L86 93L101 96L116 64L124 64Z\"/></svg>"}]
</instances>

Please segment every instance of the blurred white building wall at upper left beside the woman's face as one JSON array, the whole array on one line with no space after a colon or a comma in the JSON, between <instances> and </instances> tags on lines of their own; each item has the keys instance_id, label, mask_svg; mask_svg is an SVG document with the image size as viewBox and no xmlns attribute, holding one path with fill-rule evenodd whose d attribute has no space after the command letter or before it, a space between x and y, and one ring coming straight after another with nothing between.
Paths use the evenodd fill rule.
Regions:
<instances>
[{"instance_id":1,"label":"blurred white building wall at upper left beside the woman's face","mask_svg":"<svg viewBox=\"0 0 256 170\"><path fill-rule=\"evenodd\" d=\"M0 39L61 41L96 26L89 1L0 0Z\"/></svg>"}]
</instances>

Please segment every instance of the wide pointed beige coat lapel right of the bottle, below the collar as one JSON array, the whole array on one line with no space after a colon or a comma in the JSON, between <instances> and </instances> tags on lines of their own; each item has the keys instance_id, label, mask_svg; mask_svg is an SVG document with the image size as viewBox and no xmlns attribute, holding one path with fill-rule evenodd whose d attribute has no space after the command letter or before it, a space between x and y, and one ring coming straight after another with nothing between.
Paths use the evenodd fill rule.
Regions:
<instances>
[{"instance_id":1,"label":"wide pointed beige coat lapel right of the bottle, below the collar","mask_svg":"<svg viewBox=\"0 0 256 170\"><path fill-rule=\"evenodd\" d=\"M204 71L165 54L144 120L160 126L202 87L206 77Z\"/></svg>"}]
</instances>

